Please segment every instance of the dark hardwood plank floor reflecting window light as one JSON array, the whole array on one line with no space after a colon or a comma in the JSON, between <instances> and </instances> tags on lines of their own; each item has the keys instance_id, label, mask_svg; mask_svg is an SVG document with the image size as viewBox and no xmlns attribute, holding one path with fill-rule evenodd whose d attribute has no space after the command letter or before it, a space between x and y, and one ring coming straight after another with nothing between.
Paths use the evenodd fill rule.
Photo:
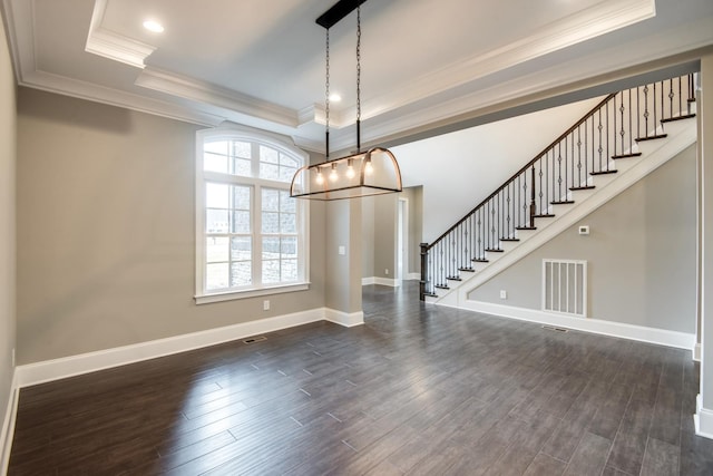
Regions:
<instances>
[{"instance_id":1,"label":"dark hardwood plank floor reflecting window light","mask_svg":"<svg viewBox=\"0 0 713 476\"><path fill-rule=\"evenodd\" d=\"M712 475L690 352L364 288L315 323L22 389L10 475Z\"/></svg>"}]
</instances>

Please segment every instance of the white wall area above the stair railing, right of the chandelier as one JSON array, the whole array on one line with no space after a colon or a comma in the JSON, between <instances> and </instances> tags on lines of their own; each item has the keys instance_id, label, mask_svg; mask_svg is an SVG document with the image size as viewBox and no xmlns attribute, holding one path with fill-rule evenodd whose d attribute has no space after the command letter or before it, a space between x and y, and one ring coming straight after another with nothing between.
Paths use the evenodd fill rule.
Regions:
<instances>
[{"instance_id":1,"label":"white wall area above the stair railing, right of the chandelier","mask_svg":"<svg viewBox=\"0 0 713 476\"><path fill-rule=\"evenodd\" d=\"M423 185L423 241L440 236L600 99L392 147L403 186Z\"/></svg>"}]
</instances>

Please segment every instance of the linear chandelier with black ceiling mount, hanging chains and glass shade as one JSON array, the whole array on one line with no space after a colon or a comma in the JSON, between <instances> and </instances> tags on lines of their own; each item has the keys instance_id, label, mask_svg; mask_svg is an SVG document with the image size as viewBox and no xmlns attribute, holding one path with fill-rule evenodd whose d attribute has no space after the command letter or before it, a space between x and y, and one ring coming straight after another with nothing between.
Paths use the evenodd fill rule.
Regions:
<instances>
[{"instance_id":1,"label":"linear chandelier with black ceiling mount, hanging chains and glass shade","mask_svg":"<svg viewBox=\"0 0 713 476\"><path fill-rule=\"evenodd\" d=\"M361 150L361 3L340 0L316 23L326 30L325 161L300 168L292 178L290 196L310 200L358 198L401 192L401 171L393 154L383 147ZM330 159L330 28L356 9L356 153Z\"/></svg>"}]
</instances>

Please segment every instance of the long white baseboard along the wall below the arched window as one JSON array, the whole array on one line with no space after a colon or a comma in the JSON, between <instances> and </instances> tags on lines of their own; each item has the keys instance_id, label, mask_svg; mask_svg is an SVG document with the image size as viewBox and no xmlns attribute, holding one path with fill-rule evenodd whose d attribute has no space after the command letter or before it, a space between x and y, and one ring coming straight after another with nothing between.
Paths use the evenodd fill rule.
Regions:
<instances>
[{"instance_id":1,"label":"long white baseboard along the wall below the arched window","mask_svg":"<svg viewBox=\"0 0 713 476\"><path fill-rule=\"evenodd\" d=\"M114 349L46 360L37 363L28 363L17 367L17 383L18 387L27 387L46 381L59 380L81 373L138 362L140 360L155 359L157 357L169 356L202 347L244 339L250 336L274 332L281 329L322 321L325 319L325 309L319 308L131 346L116 347ZM340 321L334 322L342 323Z\"/></svg>"}]
</instances>

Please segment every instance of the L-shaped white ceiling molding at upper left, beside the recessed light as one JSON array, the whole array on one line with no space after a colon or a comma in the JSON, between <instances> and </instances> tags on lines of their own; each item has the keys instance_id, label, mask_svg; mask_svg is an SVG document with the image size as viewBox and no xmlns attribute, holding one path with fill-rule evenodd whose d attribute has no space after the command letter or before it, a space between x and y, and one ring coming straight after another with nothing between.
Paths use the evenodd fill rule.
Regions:
<instances>
[{"instance_id":1,"label":"L-shaped white ceiling molding at upper left, beside the recessed light","mask_svg":"<svg viewBox=\"0 0 713 476\"><path fill-rule=\"evenodd\" d=\"M144 69L156 47L104 28L106 6L107 0L95 1L85 51Z\"/></svg>"}]
</instances>

